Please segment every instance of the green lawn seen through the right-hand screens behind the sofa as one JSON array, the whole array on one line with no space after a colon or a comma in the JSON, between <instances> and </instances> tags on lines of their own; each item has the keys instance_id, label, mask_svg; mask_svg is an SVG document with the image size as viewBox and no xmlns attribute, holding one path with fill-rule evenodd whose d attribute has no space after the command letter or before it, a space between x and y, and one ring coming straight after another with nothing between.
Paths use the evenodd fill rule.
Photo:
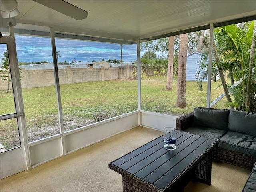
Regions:
<instances>
[{"instance_id":1,"label":"green lawn seen through the right-hand screens behind the sofa","mask_svg":"<svg viewBox=\"0 0 256 192\"><path fill-rule=\"evenodd\" d=\"M223 93L221 82L212 82L211 102ZM172 91L166 91L166 79L163 76L153 76L142 80L142 110L173 114L180 116L192 112L196 106L206 106L207 82L202 82L203 91L200 92L196 82L186 82L186 108L176 107L177 80L174 78ZM223 98L213 108L225 108L226 98Z\"/></svg>"}]
</instances>

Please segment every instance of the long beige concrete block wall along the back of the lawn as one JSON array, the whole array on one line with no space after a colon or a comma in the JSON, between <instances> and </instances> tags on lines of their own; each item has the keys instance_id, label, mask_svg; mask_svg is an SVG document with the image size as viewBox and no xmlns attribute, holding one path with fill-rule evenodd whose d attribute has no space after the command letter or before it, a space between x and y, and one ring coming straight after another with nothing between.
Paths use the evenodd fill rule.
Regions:
<instances>
[{"instance_id":1,"label":"long beige concrete block wall along the back of the lawn","mask_svg":"<svg viewBox=\"0 0 256 192\"><path fill-rule=\"evenodd\" d=\"M60 84L72 84L91 81L105 81L114 79L130 78L135 71L133 66L119 66L113 68L71 68L58 69ZM55 85L54 70L21 70L21 86L22 88L44 87ZM0 90L7 90L8 81L0 80ZM10 89L12 85L10 82Z\"/></svg>"}]
</instances>

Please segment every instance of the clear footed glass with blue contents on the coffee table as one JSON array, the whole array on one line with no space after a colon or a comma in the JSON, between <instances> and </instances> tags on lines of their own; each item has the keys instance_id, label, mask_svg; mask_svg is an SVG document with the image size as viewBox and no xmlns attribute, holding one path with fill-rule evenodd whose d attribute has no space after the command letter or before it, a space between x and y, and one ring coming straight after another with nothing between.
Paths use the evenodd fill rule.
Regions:
<instances>
[{"instance_id":1,"label":"clear footed glass with blue contents on the coffee table","mask_svg":"<svg viewBox=\"0 0 256 192\"><path fill-rule=\"evenodd\" d=\"M174 150L177 147L176 144L176 128L174 127L165 127L164 128L164 148L167 150Z\"/></svg>"}]
</instances>

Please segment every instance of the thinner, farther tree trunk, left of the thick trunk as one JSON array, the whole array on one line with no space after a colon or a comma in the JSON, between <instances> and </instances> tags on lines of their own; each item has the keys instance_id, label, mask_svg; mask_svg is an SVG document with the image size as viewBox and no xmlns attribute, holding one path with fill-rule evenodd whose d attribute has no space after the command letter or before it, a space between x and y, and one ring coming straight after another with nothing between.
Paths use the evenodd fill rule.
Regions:
<instances>
[{"instance_id":1,"label":"thinner, farther tree trunk, left of the thick trunk","mask_svg":"<svg viewBox=\"0 0 256 192\"><path fill-rule=\"evenodd\" d=\"M168 69L167 69L167 83L166 90L172 90L172 80L173 80L173 54L174 54L174 36L168 37L169 40L169 58L168 58Z\"/></svg>"}]
</instances>

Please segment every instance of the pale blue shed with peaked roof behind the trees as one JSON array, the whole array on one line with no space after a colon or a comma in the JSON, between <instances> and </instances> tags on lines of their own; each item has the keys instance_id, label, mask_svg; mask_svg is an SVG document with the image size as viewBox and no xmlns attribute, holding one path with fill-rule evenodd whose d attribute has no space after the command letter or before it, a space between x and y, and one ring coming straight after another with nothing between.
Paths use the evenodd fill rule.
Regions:
<instances>
[{"instance_id":1,"label":"pale blue shed with peaked roof behind the trees","mask_svg":"<svg viewBox=\"0 0 256 192\"><path fill-rule=\"evenodd\" d=\"M201 65L201 63L198 64L198 62L201 60L202 57L204 57L204 55L198 52L193 52L191 54L188 54L187 68L186 68L187 81L196 81L196 74L197 74L197 71L199 70L199 66ZM204 78L203 81L207 81L207 77Z\"/></svg>"}]
</instances>

